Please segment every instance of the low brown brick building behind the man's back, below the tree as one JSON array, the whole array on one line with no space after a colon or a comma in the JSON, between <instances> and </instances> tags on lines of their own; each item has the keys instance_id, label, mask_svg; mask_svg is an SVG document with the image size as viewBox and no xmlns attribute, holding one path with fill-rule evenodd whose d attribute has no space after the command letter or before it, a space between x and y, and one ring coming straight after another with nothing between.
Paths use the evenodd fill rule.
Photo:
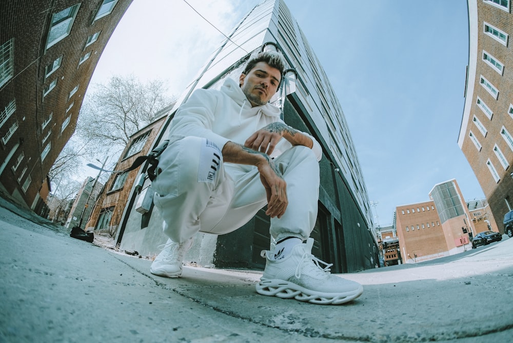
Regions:
<instances>
[{"instance_id":1,"label":"low brown brick building behind the man's back, below the tree","mask_svg":"<svg viewBox=\"0 0 513 343\"><path fill-rule=\"evenodd\" d=\"M152 149L152 142L161 132L167 115L174 104L155 114L155 120L134 133L118 160L115 170L125 170L139 156L147 155ZM94 207L86 230L97 230L115 235L122 222L125 205L131 206L129 199L132 186L136 182L138 170L125 171L121 174L111 174L105 188Z\"/></svg>"}]
</instances>

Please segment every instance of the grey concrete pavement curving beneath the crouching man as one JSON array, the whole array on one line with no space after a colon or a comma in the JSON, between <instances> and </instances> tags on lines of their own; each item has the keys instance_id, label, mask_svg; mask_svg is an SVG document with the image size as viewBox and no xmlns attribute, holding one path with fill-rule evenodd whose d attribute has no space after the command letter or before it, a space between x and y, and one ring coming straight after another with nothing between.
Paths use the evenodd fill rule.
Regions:
<instances>
[{"instance_id":1,"label":"grey concrete pavement curving beneath the crouching man","mask_svg":"<svg viewBox=\"0 0 513 343\"><path fill-rule=\"evenodd\" d=\"M507 237L448 263L344 274L363 295L319 306L258 295L260 272L185 267L179 279L154 276L146 259L35 217L0 201L0 342L513 340Z\"/></svg>"}]
</instances>

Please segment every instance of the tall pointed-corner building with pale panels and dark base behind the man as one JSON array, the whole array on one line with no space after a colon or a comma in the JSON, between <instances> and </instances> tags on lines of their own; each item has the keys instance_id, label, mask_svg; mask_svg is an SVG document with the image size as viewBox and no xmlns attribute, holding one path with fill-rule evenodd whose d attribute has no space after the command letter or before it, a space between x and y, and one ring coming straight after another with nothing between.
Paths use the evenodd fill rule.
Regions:
<instances>
[{"instance_id":1,"label":"tall pointed-corner building with pale panels and dark base behind the man","mask_svg":"<svg viewBox=\"0 0 513 343\"><path fill-rule=\"evenodd\" d=\"M311 234L315 239L313 253L333 263L334 272L376 267L378 248L367 189L342 107L304 33L282 0L264 1L242 18L188 85L174 110L195 89L219 88L227 77L238 80L245 62L263 49L279 49L290 69L290 77L285 77L284 87L271 102L282 109L286 123L310 133L323 147L319 214ZM167 136L167 128L164 125L160 139ZM154 145L158 143L159 139ZM143 188L148 185L147 182ZM133 200L125 209L117 242L122 248L157 253L157 246L166 240L159 213L152 211L148 226L141 229L141 215L133 208L139 194L135 189L132 192ZM216 267L262 268L265 260L260 257L260 250L269 247L268 229L269 218L262 210L232 233L214 238L199 233L201 237L195 240L197 249L193 247L186 260L206 261L205 264ZM238 243L236 251L228 248L234 241ZM206 257L209 254L210 259Z\"/></svg>"}]
</instances>

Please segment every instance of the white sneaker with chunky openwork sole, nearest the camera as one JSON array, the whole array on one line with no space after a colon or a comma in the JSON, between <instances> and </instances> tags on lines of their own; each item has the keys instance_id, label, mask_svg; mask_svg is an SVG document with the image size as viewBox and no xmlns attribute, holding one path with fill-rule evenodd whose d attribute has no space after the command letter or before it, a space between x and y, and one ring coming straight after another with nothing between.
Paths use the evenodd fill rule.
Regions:
<instances>
[{"instance_id":1,"label":"white sneaker with chunky openwork sole, nearest the camera","mask_svg":"<svg viewBox=\"0 0 513 343\"><path fill-rule=\"evenodd\" d=\"M313 256L312 246L313 238L309 238L283 259L263 250L262 257L267 261L257 293L322 305L339 305L359 297L363 293L362 285L332 275L329 272L332 264ZM319 263L326 267L321 268Z\"/></svg>"}]
</instances>

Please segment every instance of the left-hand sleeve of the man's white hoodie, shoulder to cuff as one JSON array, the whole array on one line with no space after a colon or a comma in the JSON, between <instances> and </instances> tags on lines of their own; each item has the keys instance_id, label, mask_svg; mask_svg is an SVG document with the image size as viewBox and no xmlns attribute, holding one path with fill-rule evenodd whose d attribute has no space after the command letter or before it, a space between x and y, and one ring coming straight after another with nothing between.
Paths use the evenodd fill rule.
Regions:
<instances>
[{"instance_id":1,"label":"left-hand sleeve of the man's white hoodie, shoulder to cuff","mask_svg":"<svg viewBox=\"0 0 513 343\"><path fill-rule=\"evenodd\" d=\"M195 90L189 99L180 106L171 121L170 140L187 136L204 137L214 142L222 150L229 139L212 132L217 105L218 99L212 91Z\"/></svg>"}]
</instances>

